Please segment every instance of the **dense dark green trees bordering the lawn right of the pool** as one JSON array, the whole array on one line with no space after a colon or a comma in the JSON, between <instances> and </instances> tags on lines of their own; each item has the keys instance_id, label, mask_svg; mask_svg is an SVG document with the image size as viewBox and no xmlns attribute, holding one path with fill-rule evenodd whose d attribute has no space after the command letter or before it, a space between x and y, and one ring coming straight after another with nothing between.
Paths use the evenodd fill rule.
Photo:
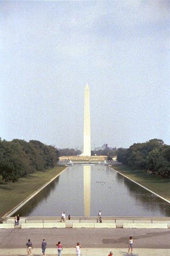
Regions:
<instances>
[{"instance_id":1,"label":"dense dark green trees bordering the lawn right of the pool","mask_svg":"<svg viewBox=\"0 0 170 256\"><path fill-rule=\"evenodd\" d=\"M155 175L170 177L170 146L159 139L134 143L128 149L119 148L117 161L133 169L151 171Z\"/></svg>"}]
</instances>

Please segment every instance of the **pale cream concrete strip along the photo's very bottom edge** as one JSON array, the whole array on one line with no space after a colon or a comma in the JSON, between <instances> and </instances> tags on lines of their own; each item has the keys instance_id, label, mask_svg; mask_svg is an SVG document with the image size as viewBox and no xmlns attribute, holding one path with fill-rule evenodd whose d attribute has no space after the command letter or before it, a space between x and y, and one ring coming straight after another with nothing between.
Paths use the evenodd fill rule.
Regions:
<instances>
[{"instance_id":1,"label":"pale cream concrete strip along the photo's very bottom edge","mask_svg":"<svg viewBox=\"0 0 170 256\"><path fill-rule=\"evenodd\" d=\"M109 252L113 252L113 256L128 256L127 248L82 248L81 256L108 256ZM32 256L42 256L41 249L34 248ZM47 248L47 256L57 256L57 249ZM26 256L25 248L18 249L0 249L0 256ZM75 248L64 248L62 251L63 256L75 256ZM145 249L134 248L134 256L170 256L170 249Z\"/></svg>"}]
</instances>

